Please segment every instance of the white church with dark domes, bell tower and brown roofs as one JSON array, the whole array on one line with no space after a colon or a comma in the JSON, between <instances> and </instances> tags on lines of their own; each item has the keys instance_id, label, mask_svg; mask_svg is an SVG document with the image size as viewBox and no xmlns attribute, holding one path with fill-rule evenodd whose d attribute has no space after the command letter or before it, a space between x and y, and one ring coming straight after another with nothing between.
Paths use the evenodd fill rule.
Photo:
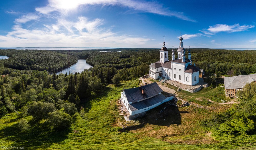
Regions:
<instances>
[{"instance_id":1,"label":"white church with dark domes, bell tower and brown roofs","mask_svg":"<svg viewBox=\"0 0 256 150\"><path fill-rule=\"evenodd\" d=\"M178 58L175 59L174 49L172 60L169 61L168 50L165 42L160 50L160 60L150 65L149 77L153 79L167 78L186 85L195 85L199 82L199 68L192 65L190 48L186 58L186 50L183 48L183 38L179 38Z\"/></svg>"}]
</instances>

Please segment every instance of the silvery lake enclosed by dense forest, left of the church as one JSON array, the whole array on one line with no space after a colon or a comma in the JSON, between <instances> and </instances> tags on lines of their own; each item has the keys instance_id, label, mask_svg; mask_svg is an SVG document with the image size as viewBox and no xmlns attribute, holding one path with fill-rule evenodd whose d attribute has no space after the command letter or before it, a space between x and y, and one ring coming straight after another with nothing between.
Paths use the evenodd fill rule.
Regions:
<instances>
[{"instance_id":1,"label":"silvery lake enclosed by dense forest, left of the church","mask_svg":"<svg viewBox=\"0 0 256 150\"><path fill-rule=\"evenodd\" d=\"M93 66L89 65L86 63L86 60L85 59L79 59L77 61L77 63L73 64L72 66L68 67L68 68L65 68L59 72L57 72L56 74L60 74L60 73L63 73L63 74L68 74L68 72L70 73L81 73L82 71L84 71L84 69L89 69Z\"/></svg>"}]
</instances>

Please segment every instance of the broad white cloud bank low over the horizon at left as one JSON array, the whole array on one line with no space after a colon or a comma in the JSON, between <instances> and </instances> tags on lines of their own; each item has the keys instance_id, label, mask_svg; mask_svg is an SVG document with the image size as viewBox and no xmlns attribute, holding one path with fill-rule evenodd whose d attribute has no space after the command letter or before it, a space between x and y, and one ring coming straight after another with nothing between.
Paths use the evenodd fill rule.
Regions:
<instances>
[{"instance_id":1,"label":"broad white cloud bank low over the horizon at left","mask_svg":"<svg viewBox=\"0 0 256 150\"><path fill-rule=\"evenodd\" d=\"M6 36L0 36L0 43L2 47L145 47L152 40L118 35L101 28L102 24L102 19L89 20L83 16L76 21L58 19L56 24L40 29L24 29L22 24L17 24Z\"/></svg>"}]
</instances>

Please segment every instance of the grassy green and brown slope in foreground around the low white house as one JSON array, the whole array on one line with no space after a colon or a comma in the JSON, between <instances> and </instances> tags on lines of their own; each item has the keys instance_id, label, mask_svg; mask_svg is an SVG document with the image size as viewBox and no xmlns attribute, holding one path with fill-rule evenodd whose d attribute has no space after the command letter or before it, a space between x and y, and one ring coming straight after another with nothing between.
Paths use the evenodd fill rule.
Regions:
<instances>
[{"instance_id":1,"label":"grassy green and brown slope in foreground around the low white house","mask_svg":"<svg viewBox=\"0 0 256 150\"><path fill-rule=\"evenodd\" d=\"M126 121L118 115L116 101L122 89L138 85L139 80L126 81L120 87L109 85L101 95L82 101L84 109L75 114L76 119L67 130L49 131L44 120L34 120L29 116L25 119L31 124L30 130L19 133L15 124L22 117L9 113L0 119L0 146L24 146L25 149L254 148L250 144L234 145L216 141L206 135L209 131L201 126L201 120L212 112L195 106L177 108L163 104L138 119L134 126L122 129L120 124ZM202 91L211 94L207 88ZM167 107L166 110L159 113L163 107Z\"/></svg>"}]
</instances>

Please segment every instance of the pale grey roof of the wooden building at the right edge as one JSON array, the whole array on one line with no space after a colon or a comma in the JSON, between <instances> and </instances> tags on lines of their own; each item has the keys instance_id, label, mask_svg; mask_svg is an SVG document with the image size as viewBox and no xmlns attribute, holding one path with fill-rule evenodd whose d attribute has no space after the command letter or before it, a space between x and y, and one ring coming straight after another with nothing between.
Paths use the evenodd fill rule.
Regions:
<instances>
[{"instance_id":1,"label":"pale grey roof of the wooden building at the right edge","mask_svg":"<svg viewBox=\"0 0 256 150\"><path fill-rule=\"evenodd\" d=\"M247 83L256 81L256 73L224 78L225 89L243 88Z\"/></svg>"}]
</instances>

